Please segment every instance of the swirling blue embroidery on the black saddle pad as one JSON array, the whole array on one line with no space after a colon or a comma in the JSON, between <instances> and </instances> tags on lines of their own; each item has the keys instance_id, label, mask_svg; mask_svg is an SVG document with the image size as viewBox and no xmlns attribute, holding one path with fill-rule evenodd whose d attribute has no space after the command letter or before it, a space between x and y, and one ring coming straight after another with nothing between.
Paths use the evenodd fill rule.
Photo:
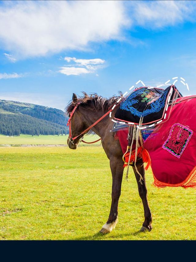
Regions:
<instances>
[{"instance_id":1,"label":"swirling blue embroidery on the black saddle pad","mask_svg":"<svg viewBox=\"0 0 196 262\"><path fill-rule=\"evenodd\" d=\"M133 98L138 95L141 95L141 98L143 98L144 92L146 92L146 88L141 88L134 91L133 93L130 94L130 96L127 97L127 99L124 102L121 103L120 108L126 111L130 111L131 114L133 115L137 115L138 117L141 117L141 116L149 115L151 113L157 113L161 110L161 108L165 106L167 92L164 92L163 90L163 92L160 94L160 97L157 100L155 100L151 104L147 104L148 107L151 107L150 109L146 109L144 111L138 111L132 105L136 103L138 104L139 100L134 100Z\"/></svg>"}]
</instances>

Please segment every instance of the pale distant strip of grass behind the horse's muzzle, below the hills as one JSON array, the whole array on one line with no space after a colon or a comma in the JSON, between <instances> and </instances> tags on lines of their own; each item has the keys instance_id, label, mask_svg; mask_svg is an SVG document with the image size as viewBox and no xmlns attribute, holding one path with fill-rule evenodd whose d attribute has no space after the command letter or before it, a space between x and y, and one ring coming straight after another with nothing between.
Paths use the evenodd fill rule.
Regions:
<instances>
[{"instance_id":1,"label":"pale distant strip of grass behind the horse's muzzle, below the hills","mask_svg":"<svg viewBox=\"0 0 196 262\"><path fill-rule=\"evenodd\" d=\"M34 145L67 145L67 138L68 135L39 135L39 136L32 136L32 135L20 135L20 136L13 136L9 137L6 135L0 135L0 145L24 145L24 144L34 144ZM85 141L95 141L99 139L97 135L85 135ZM95 143L97 145L100 144L100 142ZM84 145L84 143L81 142L81 145Z\"/></svg>"}]
</instances>

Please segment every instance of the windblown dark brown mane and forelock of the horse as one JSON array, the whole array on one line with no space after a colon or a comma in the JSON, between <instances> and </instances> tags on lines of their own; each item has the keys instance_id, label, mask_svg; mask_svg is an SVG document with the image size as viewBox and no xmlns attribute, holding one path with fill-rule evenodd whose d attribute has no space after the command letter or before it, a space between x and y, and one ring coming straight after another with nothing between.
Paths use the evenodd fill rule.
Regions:
<instances>
[{"instance_id":1,"label":"windblown dark brown mane and forelock of the horse","mask_svg":"<svg viewBox=\"0 0 196 262\"><path fill-rule=\"evenodd\" d=\"M80 102L80 106L93 111L99 111L100 109L103 110L103 112L106 112L108 108L113 105L120 96L122 96L122 92L119 92L120 96L112 96L109 99L98 96L96 93L92 93L91 95L88 95L86 92L82 92L83 96L79 96L77 98L77 103ZM67 115L74 109L76 103L74 103L72 100L68 103L68 105L65 108L65 112Z\"/></svg>"}]
</instances>

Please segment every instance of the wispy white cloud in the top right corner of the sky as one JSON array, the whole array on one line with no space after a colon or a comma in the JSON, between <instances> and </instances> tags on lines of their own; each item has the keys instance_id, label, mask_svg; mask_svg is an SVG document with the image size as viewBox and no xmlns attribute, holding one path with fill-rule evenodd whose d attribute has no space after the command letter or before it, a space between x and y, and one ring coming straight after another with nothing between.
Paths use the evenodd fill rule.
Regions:
<instances>
[{"instance_id":1,"label":"wispy white cloud in the top right corner of the sky","mask_svg":"<svg viewBox=\"0 0 196 262\"><path fill-rule=\"evenodd\" d=\"M130 1L128 6L133 24L145 28L162 28L195 20L195 1Z\"/></svg>"}]
</instances>

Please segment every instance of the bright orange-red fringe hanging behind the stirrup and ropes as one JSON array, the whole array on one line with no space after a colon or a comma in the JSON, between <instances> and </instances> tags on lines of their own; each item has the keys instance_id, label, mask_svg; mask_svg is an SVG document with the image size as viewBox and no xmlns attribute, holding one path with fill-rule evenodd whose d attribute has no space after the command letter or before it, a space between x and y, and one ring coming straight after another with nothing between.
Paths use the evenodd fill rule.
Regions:
<instances>
[{"instance_id":1,"label":"bright orange-red fringe hanging behind the stirrup and ropes","mask_svg":"<svg viewBox=\"0 0 196 262\"><path fill-rule=\"evenodd\" d=\"M130 152L127 152L124 156L124 160L125 160L125 163L128 163L129 161L129 153ZM148 152L145 150L145 148L143 147L139 147L138 148L138 154L137 154L137 158L142 158L142 161L144 163L147 163L147 166L145 167L145 170L147 170L150 166L150 158L149 158L149 154ZM133 150L131 152L131 158L130 158L130 162L135 162L135 150ZM127 164L124 164L123 167L127 166Z\"/></svg>"}]
</instances>

